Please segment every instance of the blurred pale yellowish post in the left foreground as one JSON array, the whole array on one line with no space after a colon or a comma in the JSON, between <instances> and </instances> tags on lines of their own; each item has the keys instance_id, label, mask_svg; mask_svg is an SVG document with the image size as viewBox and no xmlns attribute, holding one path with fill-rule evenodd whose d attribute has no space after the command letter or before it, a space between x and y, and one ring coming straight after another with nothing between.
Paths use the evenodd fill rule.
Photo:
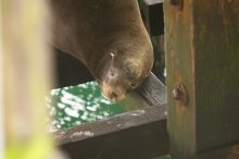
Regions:
<instances>
[{"instance_id":1,"label":"blurred pale yellowish post in the left foreground","mask_svg":"<svg viewBox=\"0 0 239 159\"><path fill-rule=\"evenodd\" d=\"M52 77L46 1L2 0L1 8L4 158L50 158L53 146L46 132L45 96Z\"/></svg>"}]
</instances>

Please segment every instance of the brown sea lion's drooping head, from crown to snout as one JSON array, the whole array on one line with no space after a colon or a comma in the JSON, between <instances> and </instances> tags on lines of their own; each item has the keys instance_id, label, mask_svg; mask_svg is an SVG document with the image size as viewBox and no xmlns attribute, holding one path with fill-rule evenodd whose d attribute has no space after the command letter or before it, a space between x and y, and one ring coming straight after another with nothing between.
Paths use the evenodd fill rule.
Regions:
<instances>
[{"instance_id":1,"label":"brown sea lion's drooping head, from crown to snout","mask_svg":"<svg viewBox=\"0 0 239 159\"><path fill-rule=\"evenodd\" d=\"M124 99L149 75L153 65L152 47L141 50L112 51L101 75L101 88L112 101ZM143 51L143 52L141 52Z\"/></svg>"}]
</instances>

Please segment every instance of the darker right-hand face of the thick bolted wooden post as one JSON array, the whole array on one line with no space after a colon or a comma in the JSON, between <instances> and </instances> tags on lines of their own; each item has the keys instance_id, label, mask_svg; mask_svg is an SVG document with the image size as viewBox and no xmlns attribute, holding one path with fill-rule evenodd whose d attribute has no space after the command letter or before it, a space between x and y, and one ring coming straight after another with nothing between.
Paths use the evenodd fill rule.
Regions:
<instances>
[{"instance_id":1,"label":"darker right-hand face of the thick bolted wooden post","mask_svg":"<svg viewBox=\"0 0 239 159\"><path fill-rule=\"evenodd\" d=\"M192 5L197 149L202 151L239 142L239 1Z\"/></svg>"}]
</instances>

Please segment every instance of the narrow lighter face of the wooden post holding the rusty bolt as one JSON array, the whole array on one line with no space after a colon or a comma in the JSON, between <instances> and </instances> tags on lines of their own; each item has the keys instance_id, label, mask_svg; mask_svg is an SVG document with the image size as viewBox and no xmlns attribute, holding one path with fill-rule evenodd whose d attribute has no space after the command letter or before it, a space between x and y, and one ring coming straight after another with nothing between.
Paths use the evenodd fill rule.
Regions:
<instances>
[{"instance_id":1,"label":"narrow lighter face of the wooden post holding the rusty bolt","mask_svg":"<svg viewBox=\"0 0 239 159\"><path fill-rule=\"evenodd\" d=\"M164 3L165 53L167 71L167 130L173 159L185 159L196 154L196 100L191 36L191 4L184 10ZM174 100L173 89L184 83L189 95L187 106Z\"/></svg>"}]
</instances>

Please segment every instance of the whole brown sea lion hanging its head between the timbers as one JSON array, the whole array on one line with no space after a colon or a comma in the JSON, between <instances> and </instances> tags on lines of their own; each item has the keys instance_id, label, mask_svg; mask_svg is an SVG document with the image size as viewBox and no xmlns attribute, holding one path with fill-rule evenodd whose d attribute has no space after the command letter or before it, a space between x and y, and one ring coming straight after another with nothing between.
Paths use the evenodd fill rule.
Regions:
<instances>
[{"instance_id":1,"label":"whole brown sea lion hanging its head between the timbers","mask_svg":"<svg viewBox=\"0 0 239 159\"><path fill-rule=\"evenodd\" d=\"M50 0L52 44L80 60L104 96L122 100L153 65L137 0Z\"/></svg>"}]
</instances>

